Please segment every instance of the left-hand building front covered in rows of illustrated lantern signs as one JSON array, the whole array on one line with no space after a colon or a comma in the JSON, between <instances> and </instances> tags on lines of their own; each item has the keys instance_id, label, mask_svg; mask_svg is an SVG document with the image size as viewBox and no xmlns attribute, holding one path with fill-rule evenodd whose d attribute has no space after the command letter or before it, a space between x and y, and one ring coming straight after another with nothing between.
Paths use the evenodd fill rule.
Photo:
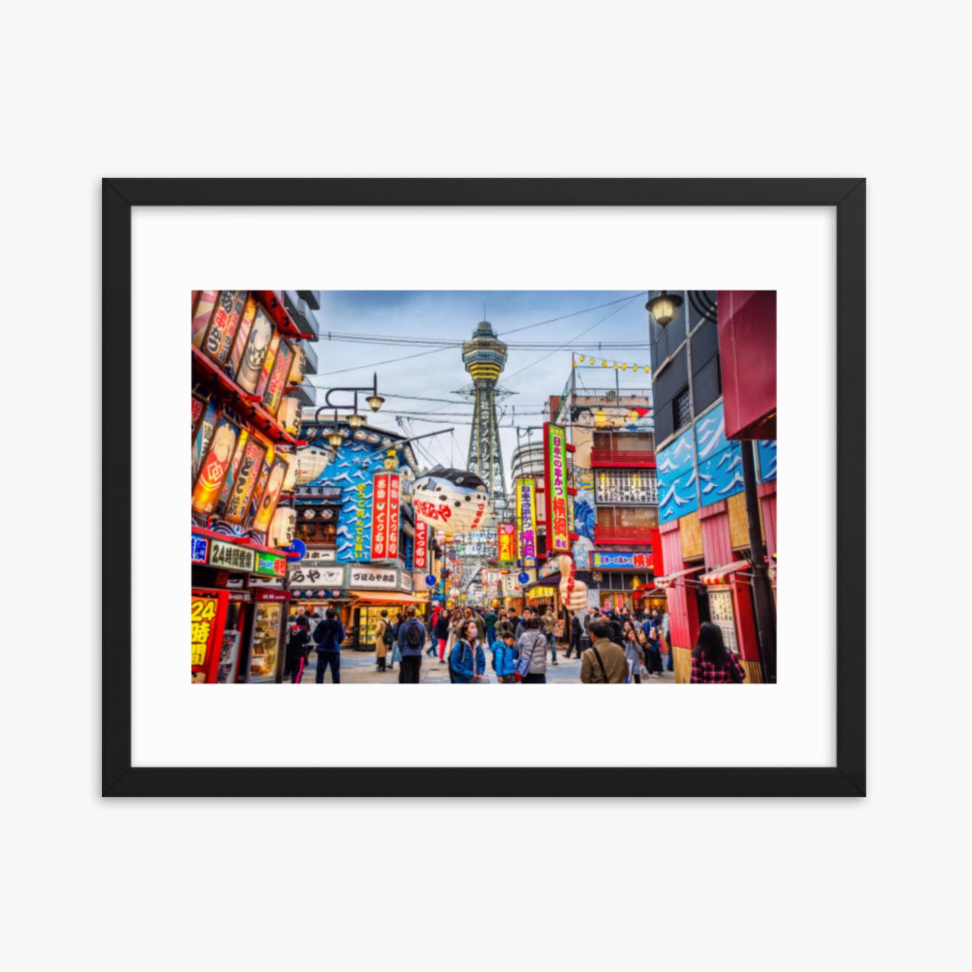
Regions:
<instances>
[{"instance_id":1,"label":"left-hand building front covered in rows of illustrated lantern signs","mask_svg":"<svg viewBox=\"0 0 972 972\"><path fill-rule=\"evenodd\" d=\"M279 681L295 446L316 321L284 291L193 291L194 682ZM313 315L311 314L311 318Z\"/></svg>"}]
</instances>

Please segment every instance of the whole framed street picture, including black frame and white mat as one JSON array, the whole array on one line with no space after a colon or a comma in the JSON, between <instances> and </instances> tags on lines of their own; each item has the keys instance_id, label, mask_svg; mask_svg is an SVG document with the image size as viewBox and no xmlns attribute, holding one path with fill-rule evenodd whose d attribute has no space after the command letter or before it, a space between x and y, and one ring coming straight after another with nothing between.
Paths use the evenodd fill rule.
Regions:
<instances>
[{"instance_id":1,"label":"whole framed street picture, including black frame and white mat","mask_svg":"<svg viewBox=\"0 0 972 972\"><path fill-rule=\"evenodd\" d=\"M104 394L122 402L105 428L115 444L105 459L103 588L116 621L103 642L105 795L863 795L863 180L109 179L102 203ZM156 219L162 210L168 218ZM231 228L241 220L246 234ZM367 265L355 258L365 249ZM321 266L329 292L192 290L314 284ZM409 304L428 313L435 300L445 308L474 297L486 309L458 336L335 327L329 355L347 360L308 356L294 368L291 349L313 330L309 294L323 294L335 315L394 304L397 322ZM530 316L516 295L562 306ZM631 330L617 330L628 314ZM590 316L574 321L581 315ZM355 357L369 342L370 358ZM444 358L418 357L446 346L452 371L430 364ZM564 373L545 372L543 356L568 363ZM436 420L431 407L408 405L413 368L429 399L461 401L453 431L469 440L458 449L423 437L418 426ZM537 413L523 405L521 426L538 432L510 450L503 383L521 368L529 384L514 391ZM200 388L214 397L205 408ZM284 396L303 394L315 404L297 439L276 413ZM187 478L187 399L194 506L192 496L171 500ZM557 448L545 455L551 428ZM291 492L289 464L271 444L279 456L306 450ZM488 551L434 524L442 537L430 542L431 573L447 566L443 586L459 605L536 608L550 615L554 644L585 614L600 615L593 623L611 644L637 621L662 631L674 671L648 665L639 676L633 666L624 687L598 688L585 651L575 683L559 678L573 670L555 660L545 689L505 692L494 680L457 691L482 674L473 651L468 664L450 658L448 675L436 660L437 679L427 665L416 678L423 688L358 692L342 685L361 666L338 645L339 683L336 666L322 684L301 680L302 667L288 681L301 612L345 635L383 606L432 619L434 591L408 573L398 537L385 544L395 563L372 567L373 537L356 543L347 517L335 516L338 536L301 546L307 563L336 556L341 576L333 587L292 588L281 558L296 563L300 552L275 549L267 532L280 503L318 512L333 503L348 516L361 507L367 525L367 491L386 473L401 483L386 533L422 523L410 484L423 476L434 487L427 499L454 524L464 503L484 497L486 530L527 515L528 549L518 538L509 546L540 570L530 565L520 581L526 565L512 567L497 605L492 585L478 583ZM516 483L532 484L526 509ZM279 589L251 585L258 558L279 568ZM795 570L788 583L786 564L813 577L818 625L803 623L806 589ZM254 599L231 608L230 591L251 586ZM192 632L196 622L205 625ZM232 644L227 631L239 632ZM726 652L722 668L711 638ZM385 678L365 660L368 678ZM528 676L538 674L533 662ZM320 691L327 706L311 698ZM578 711L618 742L550 746L542 727ZM326 765L320 747L293 742L319 738L321 720L352 717L360 731L342 735ZM463 733L454 748L434 731L489 718L523 745ZM255 720L271 731L255 738ZM393 725L412 731L389 744ZM286 750L275 739L288 739Z\"/></svg>"}]
</instances>

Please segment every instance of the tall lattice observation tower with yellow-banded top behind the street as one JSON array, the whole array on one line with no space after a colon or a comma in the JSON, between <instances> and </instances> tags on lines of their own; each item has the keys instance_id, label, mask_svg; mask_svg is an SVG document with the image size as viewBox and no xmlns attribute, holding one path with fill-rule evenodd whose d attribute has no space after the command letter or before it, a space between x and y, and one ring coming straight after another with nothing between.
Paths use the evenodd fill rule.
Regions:
<instances>
[{"instance_id":1,"label":"tall lattice observation tower with yellow-banded top behind the street","mask_svg":"<svg viewBox=\"0 0 972 972\"><path fill-rule=\"evenodd\" d=\"M463 345L463 364L472 378L472 428L469 430L467 469L489 488L494 514L508 515L503 448L496 417L496 385L506 364L506 345L489 321L480 321Z\"/></svg>"}]
</instances>

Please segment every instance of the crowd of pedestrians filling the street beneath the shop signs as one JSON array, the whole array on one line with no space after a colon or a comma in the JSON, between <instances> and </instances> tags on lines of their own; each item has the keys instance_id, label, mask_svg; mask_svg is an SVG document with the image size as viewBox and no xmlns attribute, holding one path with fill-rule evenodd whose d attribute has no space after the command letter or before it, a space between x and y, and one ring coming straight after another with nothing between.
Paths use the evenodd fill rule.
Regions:
<instances>
[{"instance_id":1,"label":"crowd of pedestrians filling the street beneath the shop signs","mask_svg":"<svg viewBox=\"0 0 972 972\"><path fill-rule=\"evenodd\" d=\"M663 677L673 671L669 641L669 617L652 608L631 613L610 608L587 608L581 618L573 614L569 628L566 658L574 652L580 660L580 680L584 684L642 684L643 677ZM557 618L549 608L441 608L435 606L428 624L413 606L395 617L382 610L375 627L375 671L394 672L399 666L399 683L419 681L423 657L448 666L449 681L469 684L487 678L486 652L497 680L504 684L543 684L549 664L559 665L557 637L561 634ZM345 632L336 611L328 608L324 618L299 608L291 623L287 646L286 675L298 683L310 652L317 649L314 680L341 680L341 642ZM667 659L667 664L666 664ZM745 672L723 641L722 631L709 622L702 624L692 652L690 681L739 683Z\"/></svg>"}]
</instances>

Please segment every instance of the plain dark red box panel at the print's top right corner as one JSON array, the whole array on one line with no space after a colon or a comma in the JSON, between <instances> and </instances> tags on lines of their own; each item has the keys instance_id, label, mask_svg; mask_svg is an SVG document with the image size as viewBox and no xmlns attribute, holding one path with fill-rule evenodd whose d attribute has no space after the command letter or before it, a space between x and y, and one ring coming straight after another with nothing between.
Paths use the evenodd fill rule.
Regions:
<instances>
[{"instance_id":1,"label":"plain dark red box panel at the print's top right corner","mask_svg":"<svg viewBox=\"0 0 972 972\"><path fill-rule=\"evenodd\" d=\"M777 292L719 291L726 438L777 437Z\"/></svg>"}]
</instances>

